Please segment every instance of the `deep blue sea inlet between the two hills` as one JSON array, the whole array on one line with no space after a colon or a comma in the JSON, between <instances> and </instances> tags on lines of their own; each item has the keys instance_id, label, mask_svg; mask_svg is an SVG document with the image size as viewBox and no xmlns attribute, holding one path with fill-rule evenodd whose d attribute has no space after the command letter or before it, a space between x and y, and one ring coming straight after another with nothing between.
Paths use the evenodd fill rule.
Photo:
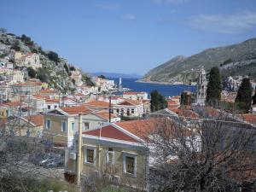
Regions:
<instances>
[{"instance_id":1,"label":"deep blue sea inlet between the two hills","mask_svg":"<svg viewBox=\"0 0 256 192\"><path fill-rule=\"evenodd\" d=\"M113 79L115 84L119 84L119 79ZM134 91L150 92L152 90L158 90L162 96L180 96L183 90L189 90L194 92L195 86L189 85L176 85L176 84L148 84L136 82L137 79L122 79L123 87L130 88Z\"/></svg>"}]
</instances>

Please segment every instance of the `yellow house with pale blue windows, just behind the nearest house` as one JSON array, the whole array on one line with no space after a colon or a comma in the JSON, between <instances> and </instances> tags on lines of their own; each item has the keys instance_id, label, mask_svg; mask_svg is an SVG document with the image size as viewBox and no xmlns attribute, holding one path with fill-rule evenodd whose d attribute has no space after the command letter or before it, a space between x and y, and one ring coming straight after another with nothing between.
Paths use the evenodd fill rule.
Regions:
<instances>
[{"instance_id":1,"label":"yellow house with pale blue windows, just behind the nearest house","mask_svg":"<svg viewBox=\"0 0 256 192\"><path fill-rule=\"evenodd\" d=\"M44 137L53 141L55 146L71 146L78 127L79 113L90 113L90 109L75 106L55 108L44 114Z\"/></svg>"}]
</instances>

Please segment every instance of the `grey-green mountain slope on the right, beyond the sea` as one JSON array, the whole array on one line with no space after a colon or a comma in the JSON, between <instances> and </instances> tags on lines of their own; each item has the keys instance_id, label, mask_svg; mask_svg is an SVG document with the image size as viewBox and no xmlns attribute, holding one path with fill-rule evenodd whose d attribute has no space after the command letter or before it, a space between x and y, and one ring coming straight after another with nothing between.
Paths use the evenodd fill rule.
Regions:
<instances>
[{"instance_id":1,"label":"grey-green mountain slope on the right, beyond the sea","mask_svg":"<svg viewBox=\"0 0 256 192\"><path fill-rule=\"evenodd\" d=\"M235 75L251 74L256 79L256 38L248 39L241 44L205 49L189 57L177 56L171 61L155 67L140 81L183 82L188 84L197 77L197 69L219 67L223 78Z\"/></svg>"}]
</instances>

